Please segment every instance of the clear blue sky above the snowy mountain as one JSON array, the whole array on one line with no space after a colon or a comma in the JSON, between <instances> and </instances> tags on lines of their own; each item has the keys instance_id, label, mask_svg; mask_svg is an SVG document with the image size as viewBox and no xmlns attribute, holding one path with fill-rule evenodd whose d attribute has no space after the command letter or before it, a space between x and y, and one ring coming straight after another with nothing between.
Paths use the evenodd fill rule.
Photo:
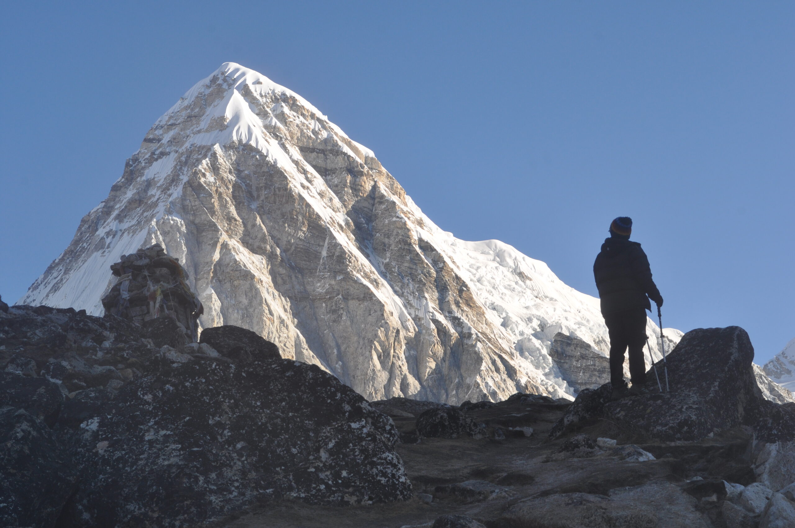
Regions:
<instances>
[{"instance_id":1,"label":"clear blue sky above the snowy mountain","mask_svg":"<svg viewBox=\"0 0 795 528\"><path fill-rule=\"evenodd\" d=\"M634 219L665 326L795 337L795 2L4 2L0 295L225 61L370 147L440 227L596 294Z\"/></svg>"}]
</instances>

